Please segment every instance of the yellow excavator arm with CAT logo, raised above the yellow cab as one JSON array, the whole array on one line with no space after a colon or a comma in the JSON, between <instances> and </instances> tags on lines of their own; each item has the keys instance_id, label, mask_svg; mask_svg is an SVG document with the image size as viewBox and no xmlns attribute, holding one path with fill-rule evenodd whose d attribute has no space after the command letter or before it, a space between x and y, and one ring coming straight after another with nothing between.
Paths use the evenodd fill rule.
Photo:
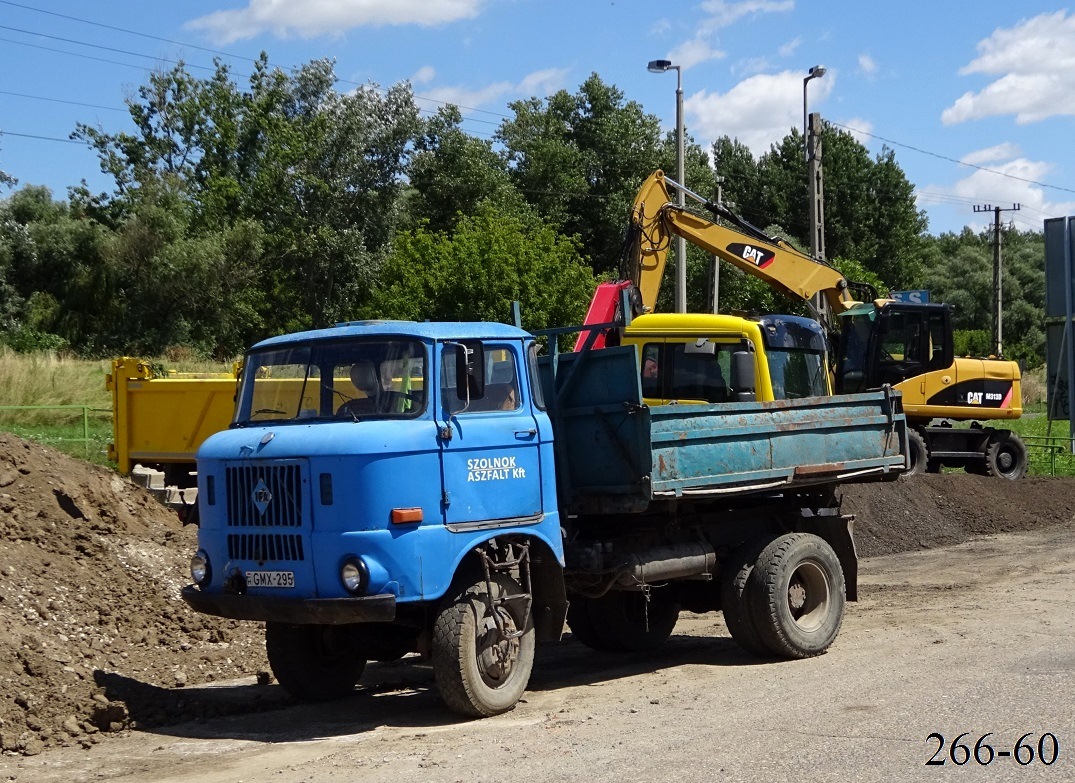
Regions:
<instances>
[{"instance_id":1,"label":"yellow excavator arm with CAT logo, raised above the yellow cab","mask_svg":"<svg viewBox=\"0 0 1075 783\"><path fill-rule=\"evenodd\" d=\"M735 228L682 209L673 203L670 187L680 188L715 215L733 223ZM821 294L833 314L859 303L837 270L800 253L783 239L768 237L732 212L668 180L662 171L650 174L639 190L631 224L624 271L627 279L637 285L646 312L655 309L673 236L683 237L792 297L808 302L816 294Z\"/></svg>"}]
</instances>

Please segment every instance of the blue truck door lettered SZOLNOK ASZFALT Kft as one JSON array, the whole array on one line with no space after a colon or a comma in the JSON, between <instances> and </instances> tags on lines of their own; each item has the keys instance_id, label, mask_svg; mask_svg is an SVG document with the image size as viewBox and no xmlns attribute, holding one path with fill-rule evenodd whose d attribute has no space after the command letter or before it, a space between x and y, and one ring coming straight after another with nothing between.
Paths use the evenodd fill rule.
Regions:
<instances>
[{"instance_id":1,"label":"blue truck door lettered SZOLNOK ASZFALT Kft","mask_svg":"<svg viewBox=\"0 0 1075 783\"><path fill-rule=\"evenodd\" d=\"M441 347L438 416L446 525L541 517L540 437L531 395L519 382L520 350L521 343L485 344L485 394L468 405L456 392L455 347Z\"/></svg>"}]
</instances>

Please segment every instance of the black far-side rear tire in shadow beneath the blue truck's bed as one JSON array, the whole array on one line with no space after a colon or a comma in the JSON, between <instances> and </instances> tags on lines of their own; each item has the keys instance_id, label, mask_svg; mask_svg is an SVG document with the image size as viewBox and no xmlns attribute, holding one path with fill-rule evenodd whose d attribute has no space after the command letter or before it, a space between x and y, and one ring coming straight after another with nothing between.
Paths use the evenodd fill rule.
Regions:
<instances>
[{"instance_id":1,"label":"black far-side rear tire in shadow beneath the blue truck's bed","mask_svg":"<svg viewBox=\"0 0 1075 783\"><path fill-rule=\"evenodd\" d=\"M647 603L644 594L628 590L584 598L572 609L576 610L572 633L586 646L610 653L656 650L672 636L679 620L679 604L675 601L651 595ZM568 614L570 625L571 610Z\"/></svg>"}]
</instances>

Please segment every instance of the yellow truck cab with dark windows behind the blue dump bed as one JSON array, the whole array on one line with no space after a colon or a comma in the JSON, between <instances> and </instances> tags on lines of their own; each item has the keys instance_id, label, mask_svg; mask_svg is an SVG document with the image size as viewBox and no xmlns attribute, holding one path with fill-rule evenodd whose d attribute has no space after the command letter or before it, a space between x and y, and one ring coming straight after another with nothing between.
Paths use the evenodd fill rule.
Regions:
<instances>
[{"instance_id":1,"label":"yellow truck cab with dark windows behind the blue dump bed","mask_svg":"<svg viewBox=\"0 0 1075 783\"><path fill-rule=\"evenodd\" d=\"M639 346L642 394L649 405L832 394L825 332L811 318L649 313L624 330L622 344ZM740 353L750 357L752 389L736 388L733 381Z\"/></svg>"}]
</instances>

